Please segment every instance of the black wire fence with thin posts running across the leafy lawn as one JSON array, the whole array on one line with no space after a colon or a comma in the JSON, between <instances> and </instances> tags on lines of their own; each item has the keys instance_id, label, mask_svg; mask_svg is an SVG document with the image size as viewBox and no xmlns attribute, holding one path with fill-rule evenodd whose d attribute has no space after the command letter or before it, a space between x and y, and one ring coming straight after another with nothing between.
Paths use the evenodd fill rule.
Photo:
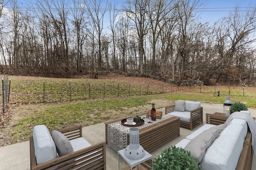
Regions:
<instances>
[{"instance_id":1,"label":"black wire fence with thin posts running across the leafy lawn","mask_svg":"<svg viewBox=\"0 0 256 170\"><path fill-rule=\"evenodd\" d=\"M90 98L162 94L176 91L217 94L218 90L220 95L256 96L256 93L252 93L255 87L243 88L229 85L181 86L166 82L136 84L116 80L90 81L89 79L27 78L22 81L14 79L11 85L11 80L4 76L2 78L2 96L4 96L2 98L2 113L9 100L11 103L48 103Z\"/></svg>"}]
</instances>

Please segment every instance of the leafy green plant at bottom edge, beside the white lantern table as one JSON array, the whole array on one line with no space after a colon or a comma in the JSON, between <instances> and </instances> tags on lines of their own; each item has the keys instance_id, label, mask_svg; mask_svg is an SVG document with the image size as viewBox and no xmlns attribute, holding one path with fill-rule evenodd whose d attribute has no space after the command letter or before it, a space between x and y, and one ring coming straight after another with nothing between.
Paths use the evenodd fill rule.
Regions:
<instances>
[{"instance_id":1,"label":"leafy green plant at bottom edge, beside the white lantern table","mask_svg":"<svg viewBox=\"0 0 256 170\"><path fill-rule=\"evenodd\" d=\"M182 148L172 146L162 150L156 162L152 165L154 170L200 170L201 166L195 162L196 158Z\"/></svg>"}]
</instances>

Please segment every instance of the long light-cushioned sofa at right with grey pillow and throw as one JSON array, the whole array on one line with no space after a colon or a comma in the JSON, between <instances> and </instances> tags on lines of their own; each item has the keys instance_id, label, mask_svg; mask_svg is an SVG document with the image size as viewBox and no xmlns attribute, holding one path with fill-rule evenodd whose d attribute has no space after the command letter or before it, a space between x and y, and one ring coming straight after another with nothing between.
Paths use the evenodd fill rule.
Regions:
<instances>
[{"instance_id":1,"label":"long light-cushioned sofa at right with grey pillow and throw","mask_svg":"<svg viewBox=\"0 0 256 170\"><path fill-rule=\"evenodd\" d=\"M244 111L241 112L245 114ZM255 127L255 118L253 119ZM223 126L222 123L218 126L205 124L175 146L185 150L195 149L197 156L201 159L201 170L251 170L254 155L252 138L255 136L252 136L248 123L240 117L231 119L226 126ZM190 143L190 141L192 142ZM191 154L192 149L190 150ZM150 170L150 164L150 161L146 161L140 166Z\"/></svg>"}]
</instances>

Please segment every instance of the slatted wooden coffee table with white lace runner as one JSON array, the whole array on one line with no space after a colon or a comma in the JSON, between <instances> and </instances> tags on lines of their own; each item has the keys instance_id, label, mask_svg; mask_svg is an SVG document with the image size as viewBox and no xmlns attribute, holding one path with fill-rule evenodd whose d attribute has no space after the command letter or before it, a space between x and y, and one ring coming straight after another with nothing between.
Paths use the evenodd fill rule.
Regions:
<instances>
[{"instance_id":1,"label":"slatted wooden coffee table with white lace runner","mask_svg":"<svg viewBox=\"0 0 256 170\"><path fill-rule=\"evenodd\" d=\"M137 115L143 118L146 117L146 114L147 112ZM130 127L121 125L121 120L129 117L136 117L137 115L105 122L106 144L116 152L125 149L130 143ZM158 148L170 139L180 136L180 117L163 114L162 119L157 119L154 123L147 123L147 118L144 120L145 124L138 127L140 145L148 152Z\"/></svg>"}]
</instances>

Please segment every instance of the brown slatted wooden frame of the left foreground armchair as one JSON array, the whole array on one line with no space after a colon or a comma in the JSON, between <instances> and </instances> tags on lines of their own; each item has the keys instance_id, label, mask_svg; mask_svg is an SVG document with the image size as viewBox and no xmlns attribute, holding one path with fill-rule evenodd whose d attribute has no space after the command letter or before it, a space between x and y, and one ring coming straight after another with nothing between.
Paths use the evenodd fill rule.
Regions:
<instances>
[{"instance_id":1,"label":"brown slatted wooden frame of the left foreground armchair","mask_svg":"<svg viewBox=\"0 0 256 170\"><path fill-rule=\"evenodd\" d=\"M82 126L58 130L69 140L82 137ZM82 166L82 167L81 167ZM54 160L37 165L33 136L30 137L30 169L60 170L60 169L94 169L106 170L106 143L101 142L76 152L60 156Z\"/></svg>"}]
</instances>

